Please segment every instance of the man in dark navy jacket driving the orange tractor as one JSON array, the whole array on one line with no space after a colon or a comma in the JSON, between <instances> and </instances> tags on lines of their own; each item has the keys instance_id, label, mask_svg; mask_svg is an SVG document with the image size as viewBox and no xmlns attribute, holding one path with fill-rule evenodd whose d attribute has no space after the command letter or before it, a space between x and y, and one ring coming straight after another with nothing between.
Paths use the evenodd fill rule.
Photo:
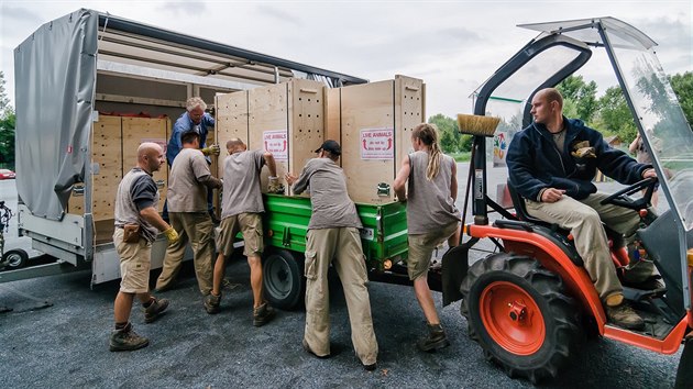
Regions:
<instances>
[{"instance_id":1,"label":"man in dark navy jacket driving the orange tractor","mask_svg":"<svg viewBox=\"0 0 693 389\"><path fill-rule=\"evenodd\" d=\"M563 116L563 98L558 90L538 91L531 107L534 123L517 133L508 148L510 184L525 198L530 215L571 231L608 321L640 330L645 322L624 301L602 226L605 223L630 236L640 216L627 208L601 204L608 194L597 192L592 178L597 168L625 185L657 174L651 165L638 164L612 148L601 133L581 120Z\"/></svg>"}]
</instances>

